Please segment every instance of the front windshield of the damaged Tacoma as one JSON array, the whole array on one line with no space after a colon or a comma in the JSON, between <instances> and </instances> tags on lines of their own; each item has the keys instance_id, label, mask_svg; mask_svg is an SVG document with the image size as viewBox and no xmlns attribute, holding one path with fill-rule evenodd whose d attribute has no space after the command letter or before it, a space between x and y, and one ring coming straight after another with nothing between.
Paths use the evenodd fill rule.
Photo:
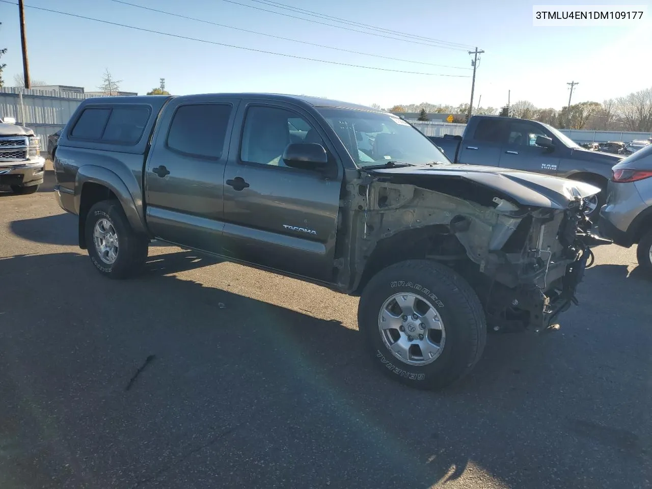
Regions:
<instances>
[{"instance_id":1,"label":"front windshield of the damaged Tacoma","mask_svg":"<svg viewBox=\"0 0 652 489\"><path fill-rule=\"evenodd\" d=\"M411 165L449 160L419 130L389 113L318 108L359 168L389 161Z\"/></svg>"}]
</instances>

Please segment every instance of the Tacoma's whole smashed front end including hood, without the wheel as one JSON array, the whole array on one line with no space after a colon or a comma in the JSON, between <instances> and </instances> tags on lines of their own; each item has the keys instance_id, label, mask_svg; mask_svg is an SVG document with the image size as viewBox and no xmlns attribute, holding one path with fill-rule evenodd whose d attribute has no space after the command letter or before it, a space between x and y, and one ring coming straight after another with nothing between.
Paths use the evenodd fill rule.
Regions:
<instances>
[{"instance_id":1,"label":"Tacoma's whole smashed front end including hood, without the wheel","mask_svg":"<svg viewBox=\"0 0 652 489\"><path fill-rule=\"evenodd\" d=\"M542 331L577 303L589 259L591 185L497 168L380 170L359 181L357 266L382 256L446 263L475 289L494 331ZM360 208L359 207L359 208Z\"/></svg>"}]
</instances>

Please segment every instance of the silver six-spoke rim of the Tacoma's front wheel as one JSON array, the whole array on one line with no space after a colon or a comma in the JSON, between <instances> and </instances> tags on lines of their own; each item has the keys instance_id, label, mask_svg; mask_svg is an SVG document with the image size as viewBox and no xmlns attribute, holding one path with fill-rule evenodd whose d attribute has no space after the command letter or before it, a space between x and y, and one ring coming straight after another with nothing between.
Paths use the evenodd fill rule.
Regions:
<instances>
[{"instance_id":1,"label":"silver six-spoke rim of the Tacoma's front wheel","mask_svg":"<svg viewBox=\"0 0 652 489\"><path fill-rule=\"evenodd\" d=\"M434 362L444 348L444 323L436 308L414 293L389 297L378 314L378 330L394 357L409 365Z\"/></svg>"}]
</instances>

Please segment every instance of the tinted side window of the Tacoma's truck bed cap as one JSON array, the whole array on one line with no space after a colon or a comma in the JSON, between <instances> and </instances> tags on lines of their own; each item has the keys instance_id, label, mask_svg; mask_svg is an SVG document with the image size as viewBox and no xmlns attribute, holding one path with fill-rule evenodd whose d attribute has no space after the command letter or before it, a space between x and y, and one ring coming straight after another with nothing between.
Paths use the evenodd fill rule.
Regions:
<instances>
[{"instance_id":1,"label":"tinted side window of the Tacoma's truck bed cap","mask_svg":"<svg viewBox=\"0 0 652 489\"><path fill-rule=\"evenodd\" d=\"M72 128L70 136L102 143L136 144L147 120L149 107L87 108Z\"/></svg>"}]
</instances>

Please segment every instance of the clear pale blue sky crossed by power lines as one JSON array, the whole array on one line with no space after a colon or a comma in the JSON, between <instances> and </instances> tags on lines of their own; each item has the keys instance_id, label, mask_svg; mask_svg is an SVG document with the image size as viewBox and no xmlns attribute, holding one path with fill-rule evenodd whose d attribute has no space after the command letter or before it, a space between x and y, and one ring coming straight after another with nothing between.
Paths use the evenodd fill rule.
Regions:
<instances>
[{"instance_id":1,"label":"clear pale blue sky crossed by power lines","mask_svg":"<svg viewBox=\"0 0 652 489\"><path fill-rule=\"evenodd\" d=\"M471 57L466 50L434 48L364 35L222 0L130 1L316 44L470 68ZM252 0L237 1L284 12ZM479 0L278 1L385 29L479 46L485 53L477 72L475 104L482 95L482 106L504 105L507 91L511 89L512 103L526 99L539 107L560 108L568 101L566 83L571 80L580 82L574 89L574 102L601 102L604 98L627 95L652 85L650 24L644 26L641 23L635 29L533 27L533 3L522 0L503 0L501 3ZM573 1L565 3L581 5ZM141 94L158 86L158 79L164 77L168 90L175 95L224 91L295 93L367 105L378 103L383 107L419 102L456 105L469 101L471 70L468 69L337 52L173 18L111 0L25 0L25 5L247 48L370 67L469 77L423 76L327 65L170 38L27 8L31 76L53 85L75 85L95 91L101 83L102 72L108 68L115 78L123 81L121 89ZM652 9L648 8L648 13L652 14ZM14 74L22 72L18 7L0 3L0 21L3 22L0 47L8 48L2 59L7 63L3 78L6 85L12 85Z\"/></svg>"}]
</instances>

